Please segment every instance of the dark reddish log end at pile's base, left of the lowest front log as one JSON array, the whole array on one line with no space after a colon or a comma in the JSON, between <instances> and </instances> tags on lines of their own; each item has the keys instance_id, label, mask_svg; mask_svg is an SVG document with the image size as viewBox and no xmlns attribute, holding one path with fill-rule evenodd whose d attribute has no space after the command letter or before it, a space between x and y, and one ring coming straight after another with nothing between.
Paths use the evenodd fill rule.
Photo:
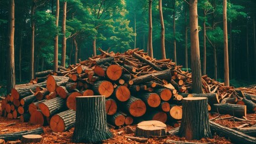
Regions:
<instances>
[{"instance_id":1,"label":"dark reddish log end at pile's base, left of the lowest front log","mask_svg":"<svg viewBox=\"0 0 256 144\"><path fill-rule=\"evenodd\" d=\"M43 116L43 113L41 110L34 111L30 116L30 124L33 125L47 125L47 119L45 116Z\"/></svg>"}]
</instances>

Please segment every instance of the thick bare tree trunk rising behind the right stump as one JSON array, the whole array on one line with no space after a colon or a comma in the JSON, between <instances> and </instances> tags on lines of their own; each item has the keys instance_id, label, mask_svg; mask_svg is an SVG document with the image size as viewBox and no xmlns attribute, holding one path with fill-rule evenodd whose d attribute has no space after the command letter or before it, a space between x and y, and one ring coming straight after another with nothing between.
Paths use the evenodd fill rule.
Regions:
<instances>
[{"instance_id":1,"label":"thick bare tree trunk rising behind the right stump","mask_svg":"<svg viewBox=\"0 0 256 144\"><path fill-rule=\"evenodd\" d=\"M198 1L189 0L189 20L190 20L190 43L191 43L191 68L192 68L192 88L194 93L202 93L202 74L199 52L198 36Z\"/></svg>"}]
</instances>

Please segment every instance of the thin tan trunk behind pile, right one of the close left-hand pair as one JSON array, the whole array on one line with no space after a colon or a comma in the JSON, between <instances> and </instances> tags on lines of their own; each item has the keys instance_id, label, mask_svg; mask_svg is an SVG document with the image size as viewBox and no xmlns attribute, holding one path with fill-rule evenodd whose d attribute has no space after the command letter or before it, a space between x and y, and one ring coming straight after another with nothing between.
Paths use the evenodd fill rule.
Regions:
<instances>
[{"instance_id":1,"label":"thin tan trunk behind pile, right one of the close left-hand pair","mask_svg":"<svg viewBox=\"0 0 256 144\"><path fill-rule=\"evenodd\" d=\"M63 2L63 19L62 19L62 53L61 53L61 66L65 67L66 64L66 17L67 17L67 1Z\"/></svg>"}]
</instances>

